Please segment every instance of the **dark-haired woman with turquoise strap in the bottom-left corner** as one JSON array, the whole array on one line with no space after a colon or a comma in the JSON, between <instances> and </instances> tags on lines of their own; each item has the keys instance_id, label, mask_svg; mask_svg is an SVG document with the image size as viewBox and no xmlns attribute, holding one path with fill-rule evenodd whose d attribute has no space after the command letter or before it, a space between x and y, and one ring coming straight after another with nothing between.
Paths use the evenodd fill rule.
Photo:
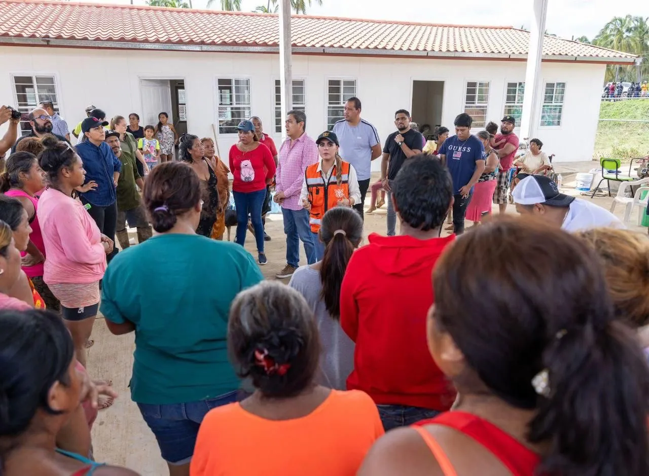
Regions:
<instances>
[{"instance_id":1,"label":"dark-haired woman with turquoise strap in the bottom-left corner","mask_svg":"<svg viewBox=\"0 0 649 476\"><path fill-rule=\"evenodd\" d=\"M3 476L138 476L58 449L58 434L86 398L74 356L74 344L59 316L47 311L0 311ZM90 433L87 427L80 431Z\"/></svg>"}]
</instances>

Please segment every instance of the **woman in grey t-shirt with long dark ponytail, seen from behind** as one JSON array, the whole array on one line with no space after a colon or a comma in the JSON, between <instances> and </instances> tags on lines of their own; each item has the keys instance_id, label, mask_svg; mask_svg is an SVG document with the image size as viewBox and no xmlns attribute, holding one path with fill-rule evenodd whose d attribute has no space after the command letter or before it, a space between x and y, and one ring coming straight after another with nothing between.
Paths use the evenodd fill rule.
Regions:
<instances>
[{"instance_id":1,"label":"woman in grey t-shirt with long dark ponytail, seen from behind","mask_svg":"<svg viewBox=\"0 0 649 476\"><path fill-rule=\"evenodd\" d=\"M304 296L315 314L323 346L317 383L347 390L354 342L340 327L340 287L347 263L363 239L363 220L352 208L332 208L324 213L319 238L324 243L322 261L298 268L289 286Z\"/></svg>"}]
</instances>

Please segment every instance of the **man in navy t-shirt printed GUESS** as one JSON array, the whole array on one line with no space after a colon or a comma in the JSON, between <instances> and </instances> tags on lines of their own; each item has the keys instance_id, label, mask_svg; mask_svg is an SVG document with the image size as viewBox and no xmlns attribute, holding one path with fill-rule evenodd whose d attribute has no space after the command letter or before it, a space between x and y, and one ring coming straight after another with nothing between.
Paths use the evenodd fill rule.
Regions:
<instances>
[{"instance_id":1,"label":"man in navy t-shirt printed GUESS","mask_svg":"<svg viewBox=\"0 0 649 476\"><path fill-rule=\"evenodd\" d=\"M455 118L455 136L444 141L439 155L453 179L453 232L464 232L464 216L473 195L473 185L484 172L484 145L471 135L473 119L467 113Z\"/></svg>"}]
</instances>

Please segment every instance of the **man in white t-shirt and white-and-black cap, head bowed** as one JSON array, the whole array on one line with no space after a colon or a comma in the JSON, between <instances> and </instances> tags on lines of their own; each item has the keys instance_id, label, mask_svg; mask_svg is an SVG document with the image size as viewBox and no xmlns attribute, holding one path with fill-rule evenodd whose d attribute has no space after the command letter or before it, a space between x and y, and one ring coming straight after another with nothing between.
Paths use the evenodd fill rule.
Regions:
<instances>
[{"instance_id":1,"label":"man in white t-shirt and white-and-black cap, head bowed","mask_svg":"<svg viewBox=\"0 0 649 476\"><path fill-rule=\"evenodd\" d=\"M535 215L569 233L593 228L626 228L610 211L588 200L559 193L557 184L542 175L524 178L511 195L521 215Z\"/></svg>"}]
</instances>

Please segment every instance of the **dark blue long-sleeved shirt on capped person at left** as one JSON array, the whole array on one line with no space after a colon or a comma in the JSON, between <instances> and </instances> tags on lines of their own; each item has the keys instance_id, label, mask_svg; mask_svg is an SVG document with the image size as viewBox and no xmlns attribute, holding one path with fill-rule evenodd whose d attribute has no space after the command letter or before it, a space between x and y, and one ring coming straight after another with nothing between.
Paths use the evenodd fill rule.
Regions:
<instances>
[{"instance_id":1,"label":"dark blue long-sleeved shirt on capped person at left","mask_svg":"<svg viewBox=\"0 0 649 476\"><path fill-rule=\"evenodd\" d=\"M97 182L97 188L81 196L84 200L98 207L107 207L117 200L117 192L113 184L113 173L121 171L121 161L105 142L99 147L86 140L77 144L77 154L86 169L86 184L91 180Z\"/></svg>"}]
</instances>

